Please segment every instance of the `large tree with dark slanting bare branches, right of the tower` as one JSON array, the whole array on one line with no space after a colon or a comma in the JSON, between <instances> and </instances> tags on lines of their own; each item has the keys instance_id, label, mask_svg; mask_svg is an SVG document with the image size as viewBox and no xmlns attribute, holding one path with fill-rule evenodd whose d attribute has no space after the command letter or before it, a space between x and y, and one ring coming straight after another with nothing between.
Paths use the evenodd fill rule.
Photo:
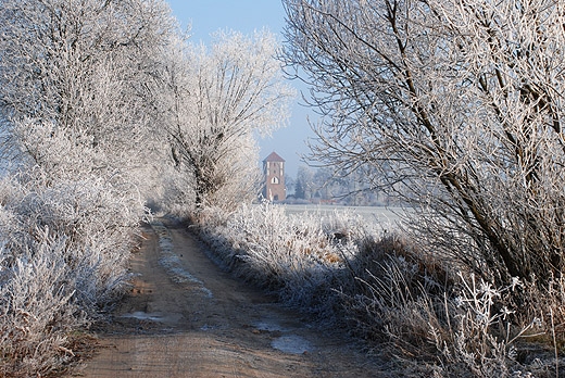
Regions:
<instances>
[{"instance_id":1,"label":"large tree with dark slanting bare branches, right of the tower","mask_svg":"<svg viewBox=\"0 0 565 378\"><path fill-rule=\"evenodd\" d=\"M380 168L374 184L401 189L418 240L455 264L506 284L561 276L562 1L284 3L289 72L325 115L315 156Z\"/></svg>"}]
</instances>

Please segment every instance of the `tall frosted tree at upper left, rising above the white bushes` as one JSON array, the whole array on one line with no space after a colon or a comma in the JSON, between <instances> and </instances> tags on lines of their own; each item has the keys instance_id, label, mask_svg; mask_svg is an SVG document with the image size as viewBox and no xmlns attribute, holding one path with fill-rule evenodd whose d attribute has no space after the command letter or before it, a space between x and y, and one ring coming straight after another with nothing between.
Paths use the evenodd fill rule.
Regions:
<instances>
[{"instance_id":1,"label":"tall frosted tree at upper left, rising above the white bushes","mask_svg":"<svg viewBox=\"0 0 565 378\"><path fill-rule=\"evenodd\" d=\"M153 121L146 81L175 26L166 3L1 0L0 9L4 156L67 177L139 165Z\"/></svg>"}]
</instances>

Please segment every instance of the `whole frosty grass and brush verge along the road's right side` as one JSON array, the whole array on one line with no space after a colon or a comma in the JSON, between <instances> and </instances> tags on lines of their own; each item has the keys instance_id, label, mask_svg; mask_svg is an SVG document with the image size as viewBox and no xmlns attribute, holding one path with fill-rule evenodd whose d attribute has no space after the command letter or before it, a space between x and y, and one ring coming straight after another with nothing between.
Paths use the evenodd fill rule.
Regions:
<instances>
[{"instance_id":1,"label":"whole frosty grass and brush verge along the road's right side","mask_svg":"<svg viewBox=\"0 0 565 378\"><path fill-rule=\"evenodd\" d=\"M350 213L289 216L265 203L201 215L196 226L218 263L380 345L409 376L555 376L556 328L543 314L562 312L561 282L553 293L517 280L495 288ZM542 305L539 316L514 303L517 290Z\"/></svg>"}]
</instances>

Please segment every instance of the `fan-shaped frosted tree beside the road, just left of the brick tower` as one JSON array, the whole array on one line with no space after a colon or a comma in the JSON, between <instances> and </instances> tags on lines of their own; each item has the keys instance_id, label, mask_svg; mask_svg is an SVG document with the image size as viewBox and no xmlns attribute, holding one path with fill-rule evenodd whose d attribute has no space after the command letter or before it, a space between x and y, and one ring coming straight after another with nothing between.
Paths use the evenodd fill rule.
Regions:
<instances>
[{"instance_id":1,"label":"fan-shaped frosted tree beside the road, just left of the brick tower","mask_svg":"<svg viewBox=\"0 0 565 378\"><path fill-rule=\"evenodd\" d=\"M256 193L254 138L285 123L293 96L276 48L267 32L218 33L211 48L180 41L172 53L164 71L164 134L197 210L230 209Z\"/></svg>"}]
</instances>

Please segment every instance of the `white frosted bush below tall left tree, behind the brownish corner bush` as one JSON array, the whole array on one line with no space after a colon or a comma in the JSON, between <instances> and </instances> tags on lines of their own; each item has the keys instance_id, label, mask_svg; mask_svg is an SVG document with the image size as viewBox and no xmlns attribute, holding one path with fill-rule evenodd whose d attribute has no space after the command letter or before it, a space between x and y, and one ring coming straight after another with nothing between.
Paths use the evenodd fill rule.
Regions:
<instances>
[{"instance_id":1,"label":"white frosted bush below tall left tree, behind the brownish corner bush","mask_svg":"<svg viewBox=\"0 0 565 378\"><path fill-rule=\"evenodd\" d=\"M90 310L124 285L133 232L143 211L130 190L100 178L45 186L41 178L27 176L24 184L4 179L0 202L12 213L12 222L0 224L12 253L33 242L29 230L36 227L65 237L65 262L79 277L76 297Z\"/></svg>"}]
</instances>

